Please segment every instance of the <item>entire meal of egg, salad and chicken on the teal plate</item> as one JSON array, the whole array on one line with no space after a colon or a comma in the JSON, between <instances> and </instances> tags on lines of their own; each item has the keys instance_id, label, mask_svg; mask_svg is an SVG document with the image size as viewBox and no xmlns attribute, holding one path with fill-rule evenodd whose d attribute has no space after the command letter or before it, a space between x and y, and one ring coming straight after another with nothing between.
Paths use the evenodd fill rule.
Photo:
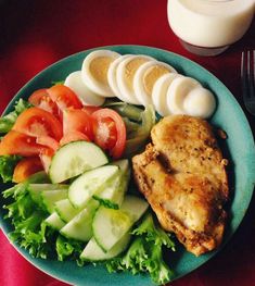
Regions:
<instances>
[{"instance_id":1,"label":"entire meal of egg, salad and chicken on the teal plate","mask_svg":"<svg viewBox=\"0 0 255 286\"><path fill-rule=\"evenodd\" d=\"M35 90L0 119L0 176L18 183L3 192L12 200L5 207L12 241L36 258L100 262L110 273L169 282L163 249L175 251L170 233L196 256L222 239L226 161L197 119L215 108L209 90L167 63L90 52L80 71ZM155 110L197 117L156 124ZM129 185L133 175L162 227Z\"/></svg>"}]
</instances>

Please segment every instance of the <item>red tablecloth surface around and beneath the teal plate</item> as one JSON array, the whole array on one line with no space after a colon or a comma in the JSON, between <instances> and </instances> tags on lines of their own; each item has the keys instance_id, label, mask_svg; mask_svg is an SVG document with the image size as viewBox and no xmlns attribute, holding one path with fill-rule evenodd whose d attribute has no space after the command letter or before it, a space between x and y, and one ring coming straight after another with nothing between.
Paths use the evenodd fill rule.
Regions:
<instances>
[{"instance_id":1,"label":"red tablecloth surface around and beneath the teal plate","mask_svg":"<svg viewBox=\"0 0 255 286\"><path fill-rule=\"evenodd\" d=\"M225 83L243 107L240 53L255 49L253 22L245 37L224 54L190 54L168 26L166 0L2 0L0 27L0 112L27 80L49 64L81 50L118 43L163 48L202 64ZM247 119L255 130L255 117L247 114ZM253 198L241 227L220 253L171 285L255 285L254 203ZM1 285L66 285L29 264L1 232L0 249Z\"/></svg>"}]
</instances>

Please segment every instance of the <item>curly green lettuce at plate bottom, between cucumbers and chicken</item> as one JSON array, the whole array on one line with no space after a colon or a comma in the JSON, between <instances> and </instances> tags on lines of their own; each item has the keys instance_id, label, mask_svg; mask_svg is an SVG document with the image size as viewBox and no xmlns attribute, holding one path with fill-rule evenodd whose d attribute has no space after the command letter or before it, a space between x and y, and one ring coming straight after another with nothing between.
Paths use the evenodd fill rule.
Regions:
<instances>
[{"instance_id":1,"label":"curly green lettuce at plate bottom, between cucumbers and chicken","mask_svg":"<svg viewBox=\"0 0 255 286\"><path fill-rule=\"evenodd\" d=\"M110 273L130 271L133 275L149 273L155 284L162 285L171 281L174 272L163 259L163 247L175 251L175 244L160 225L155 224L149 212L140 225L132 231L135 239L123 257L105 262Z\"/></svg>"}]
</instances>

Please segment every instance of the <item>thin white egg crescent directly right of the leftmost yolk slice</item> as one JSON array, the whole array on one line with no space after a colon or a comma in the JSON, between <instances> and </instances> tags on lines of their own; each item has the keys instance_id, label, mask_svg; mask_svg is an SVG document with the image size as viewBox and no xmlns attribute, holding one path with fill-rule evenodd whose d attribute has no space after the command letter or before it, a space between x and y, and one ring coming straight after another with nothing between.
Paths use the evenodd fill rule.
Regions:
<instances>
[{"instance_id":1,"label":"thin white egg crescent directly right of the leftmost yolk slice","mask_svg":"<svg viewBox=\"0 0 255 286\"><path fill-rule=\"evenodd\" d=\"M117 78L116 78L116 73L117 73L117 67L118 64L124 61L125 59L127 59L128 57L130 57L130 54L125 54L122 55L119 58L117 58L116 60L114 60L109 67L109 72L107 72L107 80L109 80L109 85L112 88L115 97L117 97L118 99L125 101L125 98L122 97L122 92L118 89L118 85L117 85Z\"/></svg>"}]
</instances>

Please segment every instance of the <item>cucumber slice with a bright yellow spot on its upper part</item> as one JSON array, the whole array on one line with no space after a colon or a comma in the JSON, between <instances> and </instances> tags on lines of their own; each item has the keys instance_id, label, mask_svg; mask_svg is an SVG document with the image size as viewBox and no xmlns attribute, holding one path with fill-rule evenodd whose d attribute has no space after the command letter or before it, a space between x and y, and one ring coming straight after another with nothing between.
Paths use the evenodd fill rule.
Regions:
<instances>
[{"instance_id":1,"label":"cucumber slice with a bright yellow spot on its upper part","mask_svg":"<svg viewBox=\"0 0 255 286\"><path fill-rule=\"evenodd\" d=\"M93 217L92 229L97 244L109 251L131 227L126 212L100 207Z\"/></svg>"}]
</instances>

